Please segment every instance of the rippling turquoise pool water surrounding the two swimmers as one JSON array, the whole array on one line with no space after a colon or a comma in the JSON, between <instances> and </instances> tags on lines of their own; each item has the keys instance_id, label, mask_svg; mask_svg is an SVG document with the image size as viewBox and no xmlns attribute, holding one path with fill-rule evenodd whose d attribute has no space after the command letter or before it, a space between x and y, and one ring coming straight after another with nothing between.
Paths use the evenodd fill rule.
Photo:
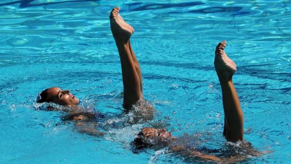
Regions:
<instances>
[{"instance_id":1,"label":"rippling turquoise pool water surrounding the two swimmers","mask_svg":"<svg viewBox=\"0 0 291 164\"><path fill-rule=\"evenodd\" d=\"M108 16L113 7L134 28L132 47L155 120L109 128L96 138L38 110L37 94L70 89L82 105L121 114L120 60ZM209 149L222 136L216 44L237 63L234 83L245 140L274 152L250 163L291 161L290 1L1 1L1 163L187 163L163 150L132 151L139 129L160 123L174 136L202 134ZM118 121L118 118L112 120Z\"/></svg>"}]
</instances>

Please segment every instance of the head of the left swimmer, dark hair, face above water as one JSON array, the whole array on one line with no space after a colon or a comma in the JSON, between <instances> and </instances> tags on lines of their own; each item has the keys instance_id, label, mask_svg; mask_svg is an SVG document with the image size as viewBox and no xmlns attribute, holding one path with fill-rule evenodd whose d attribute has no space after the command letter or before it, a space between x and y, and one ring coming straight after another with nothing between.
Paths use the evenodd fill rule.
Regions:
<instances>
[{"instance_id":1,"label":"head of the left swimmer, dark hair, face above water","mask_svg":"<svg viewBox=\"0 0 291 164\"><path fill-rule=\"evenodd\" d=\"M37 103L55 103L63 106L77 106L79 99L72 95L69 90L62 90L57 87L48 88L42 91L37 98Z\"/></svg>"}]
</instances>

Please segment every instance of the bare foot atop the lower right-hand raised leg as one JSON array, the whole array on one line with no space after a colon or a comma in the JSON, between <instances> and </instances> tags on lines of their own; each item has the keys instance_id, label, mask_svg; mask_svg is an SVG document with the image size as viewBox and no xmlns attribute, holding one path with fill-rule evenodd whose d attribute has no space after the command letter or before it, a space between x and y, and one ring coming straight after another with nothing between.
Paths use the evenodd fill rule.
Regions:
<instances>
[{"instance_id":1,"label":"bare foot atop the lower right-hand raised leg","mask_svg":"<svg viewBox=\"0 0 291 164\"><path fill-rule=\"evenodd\" d=\"M236 72L236 64L226 55L224 51L225 47L226 41L220 42L216 46L214 66L219 77L227 77L228 80L230 80L232 75Z\"/></svg>"}]
</instances>

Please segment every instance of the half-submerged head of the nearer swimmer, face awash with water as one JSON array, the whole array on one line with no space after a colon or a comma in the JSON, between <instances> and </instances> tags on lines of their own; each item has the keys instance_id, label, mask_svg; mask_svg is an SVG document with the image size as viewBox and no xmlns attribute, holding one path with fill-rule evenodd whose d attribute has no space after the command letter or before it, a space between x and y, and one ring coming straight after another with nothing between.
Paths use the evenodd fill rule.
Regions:
<instances>
[{"instance_id":1,"label":"half-submerged head of the nearer swimmer, face awash with water","mask_svg":"<svg viewBox=\"0 0 291 164\"><path fill-rule=\"evenodd\" d=\"M175 139L175 137L164 128L156 129L144 127L131 144L137 149L148 148L154 145L157 147L164 147L167 145L168 141L172 139Z\"/></svg>"}]
</instances>

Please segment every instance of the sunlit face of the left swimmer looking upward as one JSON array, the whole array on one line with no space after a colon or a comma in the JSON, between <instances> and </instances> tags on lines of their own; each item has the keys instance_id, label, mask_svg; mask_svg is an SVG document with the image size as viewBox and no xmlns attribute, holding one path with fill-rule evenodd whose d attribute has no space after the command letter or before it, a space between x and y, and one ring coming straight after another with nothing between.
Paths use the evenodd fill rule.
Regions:
<instances>
[{"instance_id":1,"label":"sunlit face of the left swimmer looking upward","mask_svg":"<svg viewBox=\"0 0 291 164\"><path fill-rule=\"evenodd\" d=\"M77 106L79 99L72 95L69 90L62 90L57 87L47 90L47 100L63 106Z\"/></svg>"}]
</instances>

